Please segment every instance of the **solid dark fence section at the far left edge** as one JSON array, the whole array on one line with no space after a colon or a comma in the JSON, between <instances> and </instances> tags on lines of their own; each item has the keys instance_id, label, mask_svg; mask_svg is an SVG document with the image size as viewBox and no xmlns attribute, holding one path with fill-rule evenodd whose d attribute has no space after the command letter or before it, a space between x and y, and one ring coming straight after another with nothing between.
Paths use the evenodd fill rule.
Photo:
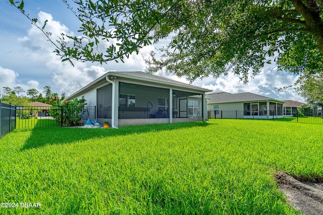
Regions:
<instances>
[{"instance_id":1,"label":"solid dark fence section at the far left edge","mask_svg":"<svg viewBox=\"0 0 323 215\"><path fill-rule=\"evenodd\" d=\"M0 101L0 139L16 128L16 106Z\"/></svg>"}]
</instances>

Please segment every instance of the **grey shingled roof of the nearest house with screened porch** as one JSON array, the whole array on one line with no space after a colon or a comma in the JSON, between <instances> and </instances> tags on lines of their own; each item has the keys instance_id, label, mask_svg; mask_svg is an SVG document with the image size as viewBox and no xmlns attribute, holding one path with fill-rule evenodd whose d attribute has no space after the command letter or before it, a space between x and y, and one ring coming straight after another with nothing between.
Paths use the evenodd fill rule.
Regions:
<instances>
[{"instance_id":1,"label":"grey shingled roof of the nearest house with screened porch","mask_svg":"<svg viewBox=\"0 0 323 215\"><path fill-rule=\"evenodd\" d=\"M202 92L211 92L211 90L208 90L205 88L201 88L201 87L197 87L194 85L174 81L174 80L167 79L167 78L160 77L160 76L155 76L152 74L144 73L142 71L108 71L103 76L99 77L98 79L94 80L90 84L86 85L85 87L83 87L79 91L77 91L74 94L72 94L71 96L69 96L67 98L67 100L69 98L77 95L78 93L92 87L97 82L105 79L108 76L113 76L113 77L117 77L117 78L119 77L119 78L125 78L125 79L132 79L132 80L139 80L139 81L143 81L143 82L147 82L147 83L148 82L149 83L156 83L156 84L161 84L161 85L171 86L171 87L181 87L181 88L186 88L186 89L193 89L193 90L198 90L198 91L202 91Z\"/></svg>"}]
</instances>

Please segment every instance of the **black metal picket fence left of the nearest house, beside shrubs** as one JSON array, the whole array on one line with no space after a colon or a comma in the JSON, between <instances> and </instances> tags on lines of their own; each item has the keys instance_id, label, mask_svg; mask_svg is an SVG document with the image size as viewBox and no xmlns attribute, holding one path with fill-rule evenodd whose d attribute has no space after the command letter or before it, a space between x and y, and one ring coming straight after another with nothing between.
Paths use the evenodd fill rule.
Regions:
<instances>
[{"instance_id":1,"label":"black metal picket fence left of the nearest house, beside shrubs","mask_svg":"<svg viewBox=\"0 0 323 215\"><path fill-rule=\"evenodd\" d=\"M17 129L31 129L34 127L65 127L83 125L89 118L94 121L95 106L82 109L56 106L19 106L16 113Z\"/></svg>"}]
</instances>

